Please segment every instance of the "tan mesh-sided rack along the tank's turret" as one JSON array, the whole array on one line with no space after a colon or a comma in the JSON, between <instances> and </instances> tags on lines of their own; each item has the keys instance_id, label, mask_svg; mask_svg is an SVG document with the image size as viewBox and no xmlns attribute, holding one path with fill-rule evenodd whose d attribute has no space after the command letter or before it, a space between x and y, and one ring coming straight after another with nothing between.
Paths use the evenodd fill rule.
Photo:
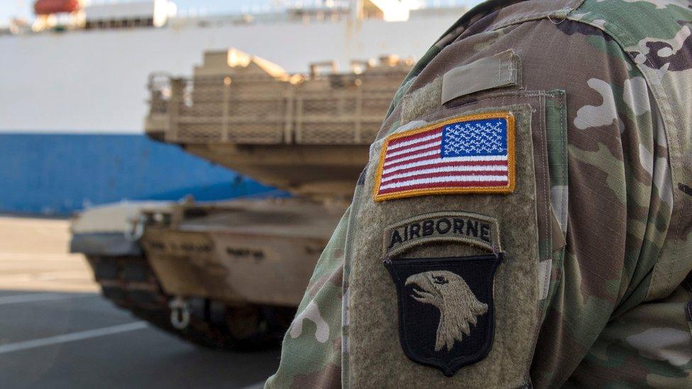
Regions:
<instances>
[{"instance_id":1,"label":"tan mesh-sided rack along the tank's turret","mask_svg":"<svg viewBox=\"0 0 692 389\"><path fill-rule=\"evenodd\" d=\"M396 89L384 76L296 85L262 77L241 82L159 74L150 78L147 133L176 144L367 145Z\"/></svg>"}]
</instances>

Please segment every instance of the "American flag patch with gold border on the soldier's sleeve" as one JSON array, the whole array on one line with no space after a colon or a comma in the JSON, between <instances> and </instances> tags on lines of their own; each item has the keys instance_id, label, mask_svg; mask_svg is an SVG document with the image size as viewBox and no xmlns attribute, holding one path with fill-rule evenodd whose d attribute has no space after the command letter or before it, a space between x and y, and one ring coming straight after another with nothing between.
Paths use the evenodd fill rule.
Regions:
<instances>
[{"instance_id":1,"label":"American flag patch with gold border on the soldier's sleeve","mask_svg":"<svg viewBox=\"0 0 692 389\"><path fill-rule=\"evenodd\" d=\"M512 193L515 120L510 112L464 115L390 135L374 200L449 193Z\"/></svg>"}]
</instances>

